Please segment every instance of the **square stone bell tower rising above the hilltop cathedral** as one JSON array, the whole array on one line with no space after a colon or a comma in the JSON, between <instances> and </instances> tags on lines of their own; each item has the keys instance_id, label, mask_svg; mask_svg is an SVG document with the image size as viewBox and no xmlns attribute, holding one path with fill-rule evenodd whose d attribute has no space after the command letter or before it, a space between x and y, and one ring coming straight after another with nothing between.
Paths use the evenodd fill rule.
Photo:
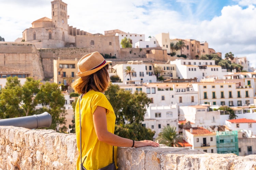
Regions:
<instances>
[{"instance_id":1,"label":"square stone bell tower rising above the hilltop cathedral","mask_svg":"<svg viewBox=\"0 0 256 170\"><path fill-rule=\"evenodd\" d=\"M62 2L62 0L54 0L51 3L53 26L68 30L67 4Z\"/></svg>"}]
</instances>

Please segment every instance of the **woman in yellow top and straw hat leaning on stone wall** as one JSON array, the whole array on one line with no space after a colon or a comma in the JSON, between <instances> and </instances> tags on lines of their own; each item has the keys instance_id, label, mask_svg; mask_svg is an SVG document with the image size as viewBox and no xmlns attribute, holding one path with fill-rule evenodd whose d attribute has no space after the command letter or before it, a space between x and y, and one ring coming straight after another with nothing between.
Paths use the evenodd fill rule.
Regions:
<instances>
[{"instance_id":1,"label":"woman in yellow top and straw hat leaning on stone wall","mask_svg":"<svg viewBox=\"0 0 256 170\"><path fill-rule=\"evenodd\" d=\"M115 164L117 147L158 147L151 140L134 141L114 135L115 113L103 92L109 86L108 64L99 52L83 56L77 63L80 78L72 83L72 88L82 94L80 109L82 123L82 151L80 151L79 100L75 108L75 131L77 148L82 153L84 167L100 169L112 163L113 146ZM80 155L77 169L80 169ZM117 166L116 166L117 167Z\"/></svg>"}]
</instances>

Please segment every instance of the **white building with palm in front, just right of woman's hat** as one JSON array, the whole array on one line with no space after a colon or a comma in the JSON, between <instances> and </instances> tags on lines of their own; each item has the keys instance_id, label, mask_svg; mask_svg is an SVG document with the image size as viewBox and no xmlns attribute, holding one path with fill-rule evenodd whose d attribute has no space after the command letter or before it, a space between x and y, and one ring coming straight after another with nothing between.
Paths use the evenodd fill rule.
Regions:
<instances>
[{"instance_id":1,"label":"white building with palm in front, just right of woman's hat","mask_svg":"<svg viewBox=\"0 0 256 170\"><path fill-rule=\"evenodd\" d=\"M133 70L131 77L125 73L126 67L130 66ZM142 61L131 61L128 64L117 64L112 67L116 70L122 82L126 84L141 84L156 82L156 75L154 74L154 67L152 64L143 64Z\"/></svg>"}]
</instances>

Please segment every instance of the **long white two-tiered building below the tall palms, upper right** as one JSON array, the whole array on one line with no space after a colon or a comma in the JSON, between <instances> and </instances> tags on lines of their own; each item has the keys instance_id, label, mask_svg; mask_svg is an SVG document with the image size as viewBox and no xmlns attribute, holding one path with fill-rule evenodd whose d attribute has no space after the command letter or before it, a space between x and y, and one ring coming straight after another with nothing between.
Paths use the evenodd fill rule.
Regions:
<instances>
[{"instance_id":1,"label":"long white two-tiered building below the tall palms, upper right","mask_svg":"<svg viewBox=\"0 0 256 170\"><path fill-rule=\"evenodd\" d=\"M177 68L177 77L180 79L198 80L205 77L222 78L224 73L221 66L215 65L214 60L180 60L170 61L170 64L175 64Z\"/></svg>"}]
</instances>

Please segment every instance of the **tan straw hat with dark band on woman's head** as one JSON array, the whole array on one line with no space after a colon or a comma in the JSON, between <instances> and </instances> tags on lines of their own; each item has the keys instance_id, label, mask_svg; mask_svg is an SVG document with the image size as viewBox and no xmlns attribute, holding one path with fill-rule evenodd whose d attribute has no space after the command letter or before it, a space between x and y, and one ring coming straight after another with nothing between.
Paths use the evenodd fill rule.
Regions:
<instances>
[{"instance_id":1,"label":"tan straw hat with dark band on woman's head","mask_svg":"<svg viewBox=\"0 0 256 170\"><path fill-rule=\"evenodd\" d=\"M112 63L112 61L105 61L98 51L86 54L77 63L79 72L76 73L76 75L79 77L85 77L95 73L109 63Z\"/></svg>"}]
</instances>

